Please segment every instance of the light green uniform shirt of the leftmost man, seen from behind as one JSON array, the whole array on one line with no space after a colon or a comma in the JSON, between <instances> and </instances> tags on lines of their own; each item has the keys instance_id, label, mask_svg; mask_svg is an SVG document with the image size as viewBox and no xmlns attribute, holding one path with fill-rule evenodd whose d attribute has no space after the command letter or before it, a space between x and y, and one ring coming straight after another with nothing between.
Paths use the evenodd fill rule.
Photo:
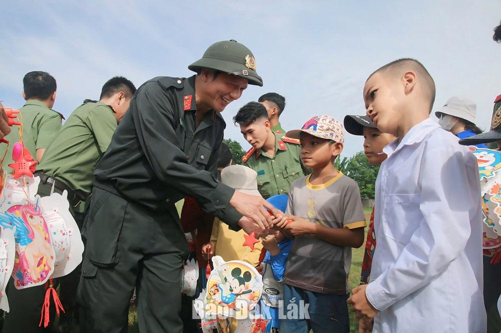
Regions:
<instances>
[{"instance_id":1,"label":"light green uniform shirt of the leftmost man, seen from behind","mask_svg":"<svg viewBox=\"0 0 501 333\"><path fill-rule=\"evenodd\" d=\"M27 100L19 111L21 113L18 114L18 119L23 123L24 145L30 151L33 159L37 160L37 149L44 149L49 146L49 143L51 143L61 128L64 116L37 99ZM12 168L7 164L10 164L12 161L14 143L20 141L17 126L11 130L5 139L9 141L9 147L7 148L4 169L8 173L12 173ZM4 146L2 149L1 156L4 155L6 147Z\"/></svg>"}]
</instances>

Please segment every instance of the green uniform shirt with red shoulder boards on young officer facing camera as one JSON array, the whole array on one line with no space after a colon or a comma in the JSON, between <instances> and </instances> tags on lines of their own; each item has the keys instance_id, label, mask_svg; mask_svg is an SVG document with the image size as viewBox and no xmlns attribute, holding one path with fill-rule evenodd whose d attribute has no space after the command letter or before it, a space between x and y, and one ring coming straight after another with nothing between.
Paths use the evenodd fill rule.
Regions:
<instances>
[{"instance_id":1,"label":"green uniform shirt with red shoulder boards on young officer facing camera","mask_svg":"<svg viewBox=\"0 0 501 333\"><path fill-rule=\"evenodd\" d=\"M308 174L301 163L301 146L298 139L275 134L275 155L268 156L261 149L250 148L242 157L243 163L258 172L258 189L264 198L288 194L291 184Z\"/></svg>"}]
</instances>

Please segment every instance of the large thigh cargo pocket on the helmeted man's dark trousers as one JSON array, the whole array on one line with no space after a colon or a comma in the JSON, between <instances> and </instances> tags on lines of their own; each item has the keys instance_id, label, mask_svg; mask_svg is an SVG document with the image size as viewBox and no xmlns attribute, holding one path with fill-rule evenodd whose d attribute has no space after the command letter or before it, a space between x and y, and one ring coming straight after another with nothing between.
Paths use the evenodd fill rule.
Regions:
<instances>
[{"instance_id":1,"label":"large thigh cargo pocket on the helmeted man's dark trousers","mask_svg":"<svg viewBox=\"0 0 501 333\"><path fill-rule=\"evenodd\" d=\"M105 201L89 217L87 230L86 257L99 267L117 263L118 240L127 208L127 200L112 193Z\"/></svg>"}]
</instances>

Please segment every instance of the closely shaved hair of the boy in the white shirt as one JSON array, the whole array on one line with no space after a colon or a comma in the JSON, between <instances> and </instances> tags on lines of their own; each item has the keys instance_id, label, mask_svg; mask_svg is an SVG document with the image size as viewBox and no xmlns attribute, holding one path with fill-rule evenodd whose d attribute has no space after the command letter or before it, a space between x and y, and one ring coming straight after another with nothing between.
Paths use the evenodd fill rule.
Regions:
<instances>
[{"instance_id":1,"label":"closely shaved hair of the boy in the white shirt","mask_svg":"<svg viewBox=\"0 0 501 333\"><path fill-rule=\"evenodd\" d=\"M435 81L433 81L433 77L431 77L430 73L424 67L424 65L416 59L401 58L391 61L384 66L379 67L372 74L370 74L366 82L369 80L369 78L371 78L372 75L377 72L384 72L386 74L400 78L405 73L405 71L409 69L415 71L419 77L422 77L424 79L423 89L426 93L426 97L429 100L429 113L431 113L433 103L435 102Z\"/></svg>"}]
</instances>

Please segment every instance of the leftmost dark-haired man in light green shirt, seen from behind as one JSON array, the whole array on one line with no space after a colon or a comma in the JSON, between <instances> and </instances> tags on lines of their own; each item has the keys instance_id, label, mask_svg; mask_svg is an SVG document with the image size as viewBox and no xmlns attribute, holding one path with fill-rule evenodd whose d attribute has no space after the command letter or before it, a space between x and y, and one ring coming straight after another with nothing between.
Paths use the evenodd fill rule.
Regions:
<instances>
[{"instance_id":1,"label":"leftmost dark-haired man in light green shirt, seen from behind","mask_svg":"<svg viewBox=\"0 0 501 333\"><path fill-rule=\"evenodd\" d=\"M52 109L56 100L56 80L45 71L30 71L23 78L23 98L26 103L19 109L19 121L23 123L23 143L33 159L40 161L45 149L52 141L58 130L61 128L63 114ZM7 173L12 173L12 168L7 164L13 162L12 149L14 143L20 141L19 133L21 127L14 128L5 137L9 147L2 145L0 156L3 156L6 149L7 156L4 169ZM8 162L9 161L9 162Z\"/></svg>"}]
</instances>

